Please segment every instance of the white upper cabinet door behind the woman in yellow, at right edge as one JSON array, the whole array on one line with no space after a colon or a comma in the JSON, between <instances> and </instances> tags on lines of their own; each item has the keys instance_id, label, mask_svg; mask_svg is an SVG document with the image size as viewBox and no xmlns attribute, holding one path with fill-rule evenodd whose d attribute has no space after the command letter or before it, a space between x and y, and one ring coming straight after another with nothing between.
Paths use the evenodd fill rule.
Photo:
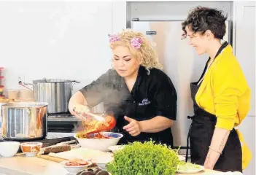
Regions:
<instances>
[{"instance_id":1,"label":"white upper cabinet door behind the woman in yellow, at right edge","mask_svg":"<svg viewBox=\"0 0 256 175\"><path fill-rule=\"evenodd\" d=\"M236 58L252 90L249 116L255 116L255 1L236 1Z\"/></svg>"}]
</instances>

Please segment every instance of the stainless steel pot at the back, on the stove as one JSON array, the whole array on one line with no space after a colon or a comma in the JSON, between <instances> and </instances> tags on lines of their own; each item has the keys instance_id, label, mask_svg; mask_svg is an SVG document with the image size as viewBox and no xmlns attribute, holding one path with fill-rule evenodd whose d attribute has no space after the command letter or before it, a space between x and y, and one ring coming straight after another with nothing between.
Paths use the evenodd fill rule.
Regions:
<instances>
[{"instance_id":1,"label":"stainless steel pot at the back, on the stove","mask_svg":"<svg viewBox=\"0 0 256 175\"><path fill-rule=\"evenodd\" d=\"M69 79L36 79L32 84L34 99L48 103L49 114L69 112L69 100L75 83L79 82ZM25 87L30 85L22 82L19 84Z\"/></svg>"}]
</instances>

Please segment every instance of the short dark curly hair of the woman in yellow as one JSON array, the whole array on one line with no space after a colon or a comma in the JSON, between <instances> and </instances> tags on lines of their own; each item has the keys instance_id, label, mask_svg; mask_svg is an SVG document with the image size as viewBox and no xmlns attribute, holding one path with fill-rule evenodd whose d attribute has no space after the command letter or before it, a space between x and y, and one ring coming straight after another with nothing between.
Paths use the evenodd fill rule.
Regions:
<instances>
[{"instance_id":1,"label":"short dark curly hair of the woman in yellow","mask_svg":"<svg viewBox=\"0 0 256 175\"><path fill-rule=\"evenodd\" d=\"M194 33L204 34L207 30L210 30L215 38L223 39L226 33L225 20L227 18L228 15L223 15L222 11L218 9L195 7L182 23L182 30L185 32L182 36L186 38L187 31L185 31L185 28L189 26Z\"/></svg>"}]
</instances>

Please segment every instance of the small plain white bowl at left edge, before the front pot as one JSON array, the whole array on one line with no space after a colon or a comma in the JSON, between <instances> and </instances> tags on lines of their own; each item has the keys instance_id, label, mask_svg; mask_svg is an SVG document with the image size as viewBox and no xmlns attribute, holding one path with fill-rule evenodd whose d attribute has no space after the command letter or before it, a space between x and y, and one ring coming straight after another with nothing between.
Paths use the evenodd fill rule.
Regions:
<instances>
[{"instance_id":1,"label":"small plain white bowl at left edge, before the front pot","mask_svg":"<svg viewBox=\"0 0 256 175\"><path fill-rule=\"evenodd\" d=\"M18 141L3 141L0 142L0 155L6 158L14 156L20 148Z\"/></svg>"}]
</instances>

